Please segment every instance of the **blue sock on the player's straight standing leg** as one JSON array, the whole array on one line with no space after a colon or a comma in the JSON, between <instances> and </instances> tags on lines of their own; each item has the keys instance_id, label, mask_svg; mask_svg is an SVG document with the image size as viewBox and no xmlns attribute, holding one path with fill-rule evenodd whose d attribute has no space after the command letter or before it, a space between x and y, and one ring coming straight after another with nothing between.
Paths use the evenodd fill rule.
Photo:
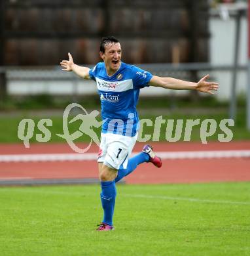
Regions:
<instances>
[{"instance_id":1,"label":"blue sock on the player's straight standing leg","mask_svg":"<svg viewBox=\"0 0 250 256\"><path fill-rule=\"evenodd\" d=\"M113 226L115 197L115 181L101 181L101 205L104 211L103 223L110 226Z\"/></svg>"}]
</instances>

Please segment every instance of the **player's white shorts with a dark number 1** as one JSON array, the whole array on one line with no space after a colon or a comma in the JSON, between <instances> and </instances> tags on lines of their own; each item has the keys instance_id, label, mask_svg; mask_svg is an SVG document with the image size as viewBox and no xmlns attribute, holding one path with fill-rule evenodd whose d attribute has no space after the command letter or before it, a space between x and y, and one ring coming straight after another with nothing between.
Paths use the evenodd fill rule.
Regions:
<instances>
[{"instance_id":1,"label":"player's white shorts with a dark number 1","mask_svg":"<svg viewBox=\"0 0 250 256\"><path fill-rule=\"evenodd\" d=\"M122 136L113 133L101 133L101 144L98 154L98 163L119 169L122 165L126 169L128 158L135 146L138 133L134 137Z\"/></svg>"}]
</instances>

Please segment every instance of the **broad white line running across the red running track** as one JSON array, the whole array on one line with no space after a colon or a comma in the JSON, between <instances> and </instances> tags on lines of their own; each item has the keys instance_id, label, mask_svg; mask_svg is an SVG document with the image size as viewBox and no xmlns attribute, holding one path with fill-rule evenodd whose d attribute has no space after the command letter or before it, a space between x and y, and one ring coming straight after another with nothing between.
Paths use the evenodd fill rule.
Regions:
<instances>
[{"instance_id":1,"label":"broad white line running across the red running track","mask_svg":"<svg viewBox=\"0 0 250 256\"><path fill-rule=\"evenodd\" d=\"M136 153L132 154L134 156ZM200 158L250 158L250 150L207 150L156 152L160 158L168 159L200 159ZM0 162L27 161L91 161L96 160L96 153L84 154L12 154L0 155Z\"/></svg>"}]
</instances>

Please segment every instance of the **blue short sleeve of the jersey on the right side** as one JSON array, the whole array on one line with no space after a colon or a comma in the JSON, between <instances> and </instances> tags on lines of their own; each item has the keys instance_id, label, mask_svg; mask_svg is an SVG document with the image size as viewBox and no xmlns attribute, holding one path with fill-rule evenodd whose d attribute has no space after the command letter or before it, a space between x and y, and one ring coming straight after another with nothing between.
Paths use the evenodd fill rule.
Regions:
<instances>
[{"instance_id":1,"label":"blue short sleeve of the jersey on the right side","mask_svg":"<svg viewBox=\"0 0 250 256\"><path fill-rule=\"evenodd\" d=\"M134 89L141 89L149 86L149 81L152 78L152 74L137 66L132 66L133 84Z\"/></svg>"}]
</instances>

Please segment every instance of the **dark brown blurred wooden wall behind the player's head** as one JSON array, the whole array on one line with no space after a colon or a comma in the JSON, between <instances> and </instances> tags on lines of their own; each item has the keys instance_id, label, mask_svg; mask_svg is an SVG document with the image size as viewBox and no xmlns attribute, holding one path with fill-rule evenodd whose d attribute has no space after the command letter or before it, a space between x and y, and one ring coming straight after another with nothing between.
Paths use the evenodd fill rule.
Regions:
<instances>
[{"instance_id":1,"label":"dark brown blurred wooden wall behind the player's head","mask_svg":"<svg viewBox=\"0 0 250 256\"><path fill-rule=\"evenodd\" d=\"M128 63L206 62L207 0L3 0L2 65L99 60L99 41L115 35Z\"/></svg>"}]
</instances>

